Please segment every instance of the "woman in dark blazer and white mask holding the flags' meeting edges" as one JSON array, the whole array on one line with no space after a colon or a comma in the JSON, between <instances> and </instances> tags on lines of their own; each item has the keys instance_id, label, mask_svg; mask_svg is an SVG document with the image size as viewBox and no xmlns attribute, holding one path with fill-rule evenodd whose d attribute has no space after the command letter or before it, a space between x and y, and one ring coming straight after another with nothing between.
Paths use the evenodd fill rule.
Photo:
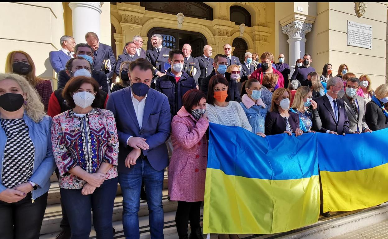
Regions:
<instances>
[{"instance_id":1,"label":"woman in dark blazer and white mask holding the flags' meeting edges","mask_svg":"<svg viewBox=\"0 0 388 239\"><path fill-rule=\"evenodd\" d=\"M288 89L279 88L274 91L270 112L265 118L265 135L286 133L296 136L303 134L299 126L297 113L289 111L291 92Z\"/></svg>"}]
</instances>

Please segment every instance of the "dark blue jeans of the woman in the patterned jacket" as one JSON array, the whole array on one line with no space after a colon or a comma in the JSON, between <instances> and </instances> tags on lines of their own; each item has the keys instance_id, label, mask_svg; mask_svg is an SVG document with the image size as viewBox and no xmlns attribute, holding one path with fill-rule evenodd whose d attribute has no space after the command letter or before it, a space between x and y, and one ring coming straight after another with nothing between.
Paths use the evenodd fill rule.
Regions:
<instances>
[{"instance_id":1,"label":"dark blue jeans of the woman in the patterned jacket","mask_svg":"<svg viewBox=\"0 0 388 239\"><path fill-rule=\"evenodd\" d=\"M89 239L91 210L97 239L113 239L112 214L117 182L118 177L108 179L87 196L81 194L82 189L60 189L61 202L69 218L71 239Z\"/></svg>"}]
</instances>

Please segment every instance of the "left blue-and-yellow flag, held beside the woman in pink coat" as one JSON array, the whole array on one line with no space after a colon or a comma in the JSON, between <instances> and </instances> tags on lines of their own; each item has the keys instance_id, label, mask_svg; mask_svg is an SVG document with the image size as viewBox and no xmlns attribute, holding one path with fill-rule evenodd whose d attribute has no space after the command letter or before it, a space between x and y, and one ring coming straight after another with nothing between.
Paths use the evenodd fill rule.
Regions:
<instances>
[{"instance_id":1,"label":"left blue-and-yellow flag, held beside the woman in pink coat","mask_svg":"<svg viewBox=\"0 0 388 239\"><path fill-rule=\"evenodd\" d=\"M317 222L317 138L210 123L204 233L272 234Z\"/></svg>"}]
</instances>

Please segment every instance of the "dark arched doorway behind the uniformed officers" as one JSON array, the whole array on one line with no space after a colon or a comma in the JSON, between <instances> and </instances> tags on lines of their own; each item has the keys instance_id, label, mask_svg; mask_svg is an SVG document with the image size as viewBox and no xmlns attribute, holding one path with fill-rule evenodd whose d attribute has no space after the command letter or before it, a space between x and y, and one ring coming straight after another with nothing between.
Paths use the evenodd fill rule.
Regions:
<instances>
[{"instance_id":1,"label":"dark arched doorway behind the uniformed officers","mask_svg":"<svg viewBox=\"0 0 388 239\"><path fill-rule=\"evenodd\" d=\"M162 45L171 48L182 50L182 47L185 43L191 45L191 56L199 57L203 54L203 47L208 44L208 41L203 36L203 34L194 32L194 31L184 31L177 29L168 29L168 28L152 28L148 34L148 39L151 39L153 34L161 34L163 37ZM151 49L153 46L151 42L147 42L147 49Z\"/></svg>"}]
</instances>

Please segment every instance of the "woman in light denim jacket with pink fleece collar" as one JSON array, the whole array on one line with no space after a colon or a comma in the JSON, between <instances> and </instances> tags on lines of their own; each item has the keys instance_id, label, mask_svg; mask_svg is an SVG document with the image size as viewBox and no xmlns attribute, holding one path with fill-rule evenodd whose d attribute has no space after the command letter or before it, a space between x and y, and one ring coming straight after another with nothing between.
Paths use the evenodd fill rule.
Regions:
<instances>
[{"instance_id":1,"label":"woman in light denim jacket with pink fleece collar","mask_svg":"<svg viewBox=\"0 0 388 239\"><path fill-rule=\"evenodd\" d=\"M241 91L241 107L244 110L252 132L265 138L264 122L268 113L268 107L260 98L262 86L257 79L249 79L245 82Z\"/></svg>"}]
</instances>

